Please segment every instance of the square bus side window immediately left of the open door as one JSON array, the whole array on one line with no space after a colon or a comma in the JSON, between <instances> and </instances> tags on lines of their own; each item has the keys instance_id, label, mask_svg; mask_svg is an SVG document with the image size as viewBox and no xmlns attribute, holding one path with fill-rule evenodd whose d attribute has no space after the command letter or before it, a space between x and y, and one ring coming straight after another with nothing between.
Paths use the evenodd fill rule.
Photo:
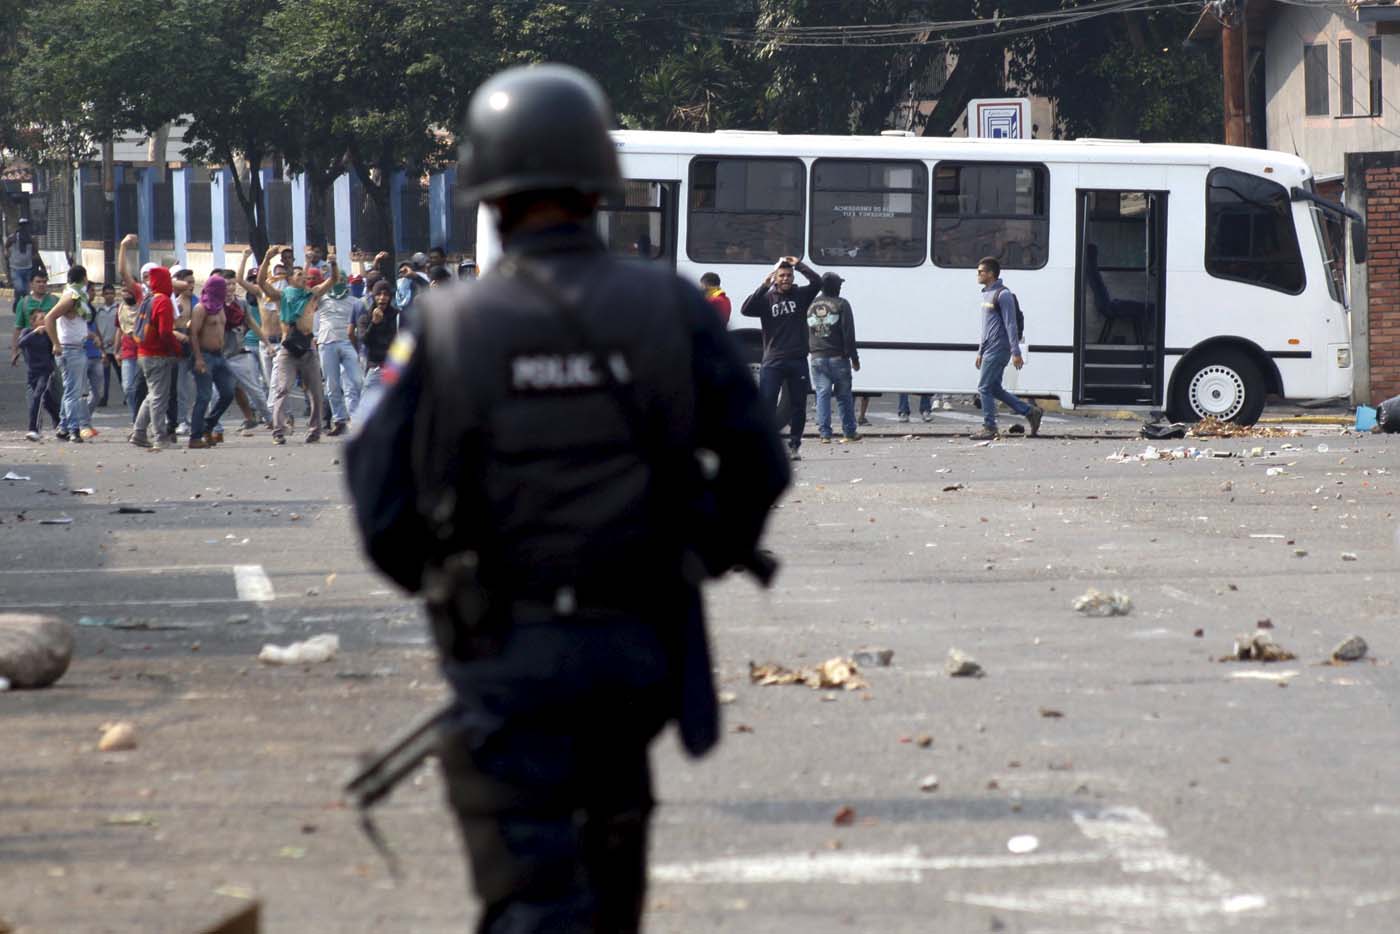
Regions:
<instances>
[{"instance_id":1,"label":"square bus side window immediately left of the open door","mask_svg":"<svg viewBox=\"0 0 1400 934\"><path fill-rule=\"evenodd\" d=\"M1043 165L939 162L934 169L934 263L1040 269L1050 252L1049 178Z\"/></svg>"}]
</instances>

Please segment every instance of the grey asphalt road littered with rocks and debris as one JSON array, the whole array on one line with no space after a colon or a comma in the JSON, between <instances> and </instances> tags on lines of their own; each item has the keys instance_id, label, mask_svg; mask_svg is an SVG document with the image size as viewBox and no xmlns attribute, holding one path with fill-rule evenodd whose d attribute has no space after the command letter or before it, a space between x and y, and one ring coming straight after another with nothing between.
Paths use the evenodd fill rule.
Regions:
<instances>
[{"instance_id":1,"label":"grey asphalt road littered with rocks and debris","mask_svg":"<svg viewBox=\"0 0 1400 934\"><path fill-rule=\"evenodd\" d=\"M0 608L80 626L59 685L0 695L0 920L183 933L258 899L279 934L468 930L433 772L381 808L400 882L339 802L357 752L442 696L358 552L339 445L148 454L119 409L34 445L21 378L0 370L0 475L29 478L0 480ZM860 444L804 445L773 591L711 588L727 737L700 763L655 748L648 930L1393 928L1397 445L1114 462L1147 447L1131 423L979 447L974 413L892 403ZM1074 612L1089 587L1131 613ZM1263 619L1296 661L1215 661ZM330 662L255 660L323 632ZM1372 658L1322 665L1351 633ZM749 682L864 646L893 662L862 690ZM987 676L946 676L952 647ZM137 749L97 751L113 720Z\"/></svg>"}]
</instances>

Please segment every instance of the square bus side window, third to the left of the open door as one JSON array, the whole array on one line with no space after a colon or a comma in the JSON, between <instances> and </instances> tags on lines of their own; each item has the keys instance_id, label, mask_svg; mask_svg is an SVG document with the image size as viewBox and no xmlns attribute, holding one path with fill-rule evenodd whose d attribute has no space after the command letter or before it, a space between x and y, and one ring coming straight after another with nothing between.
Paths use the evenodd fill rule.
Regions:
<instances>
[{"instance_id":1,"label":"square bus side window, third to the left of the open door","mask_svg":"<svg viewBox=\"0 0 1400 934\"><path fill-rule=\"evenodd\" d=\"M686 252L706 263L801 258L805 188L801 160L693 160Z\"/></svg>"}]
</instances>

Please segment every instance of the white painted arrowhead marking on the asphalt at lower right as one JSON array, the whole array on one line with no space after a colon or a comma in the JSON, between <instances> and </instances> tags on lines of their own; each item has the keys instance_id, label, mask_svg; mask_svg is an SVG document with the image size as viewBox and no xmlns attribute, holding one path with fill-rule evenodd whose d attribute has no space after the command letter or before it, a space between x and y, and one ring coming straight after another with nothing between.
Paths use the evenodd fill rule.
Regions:
<instances>
[{"instance_id":1,"label":"white painted arrowhead marking on the asphalt at lower right","mask_svg":"<svg viewBox=\"0 0 1400 934\"><path fill-rule=\"evenodd\" d=\"M1222 914L1268 907L1263 895L1239 892L1204 861L1172 850L1166 829L1138 808L1077 811L1074 823L1085 837L1105 846L1127 875L1166 877L1163 884L1051 886L1015 892L959 892L949 900L1005 912L1096 917L1147 930L1189 934L1214 930Z\"/></svg>"}]
</instances>

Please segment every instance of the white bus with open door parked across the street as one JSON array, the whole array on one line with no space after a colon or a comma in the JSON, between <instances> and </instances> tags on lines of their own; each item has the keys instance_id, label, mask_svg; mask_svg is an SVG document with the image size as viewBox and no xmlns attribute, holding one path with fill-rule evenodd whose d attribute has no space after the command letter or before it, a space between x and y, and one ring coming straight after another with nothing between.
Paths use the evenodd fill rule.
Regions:
<instances>
[{"instance_id":1,"label":"white bus with open door parked across the street","mask_svg":"<svg viewBox=\"0 0 1400 934\"><path fill-rule=\"evenodd\" d=\"M1121 140L613 139L629 182L599 214L603 238L690 280L718 273L750 360L757 321L739 307L795 255L846 279L857 392L974 392L976 266L995 256L1025 314L1022 395L1252 423L1267 395L1351 392L1340 249L1344 217L1359 217L1319 199L1296 157ZM1364 244L1357 231L1358 262Z\"/></svg>"}]
</instances>

